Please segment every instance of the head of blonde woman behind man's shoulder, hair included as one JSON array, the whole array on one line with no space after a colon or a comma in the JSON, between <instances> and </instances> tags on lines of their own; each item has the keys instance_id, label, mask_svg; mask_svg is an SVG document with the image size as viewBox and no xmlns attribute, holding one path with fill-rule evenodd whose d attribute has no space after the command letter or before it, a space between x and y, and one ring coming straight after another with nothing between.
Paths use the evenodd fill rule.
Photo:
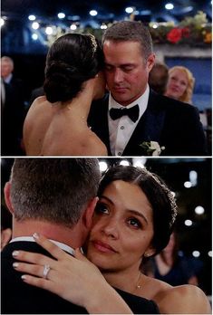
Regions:
<instances>
[{"instance_id":1,"label":"head of blonde woman behind man's shoulder, hair included","mask_svg":"<svg viewBox=\"0 0 213 315\"><path fill-rule=\"evenodd\" d=\"M169 69L169 80L165 95L171 99L191 103L195 78L188 68L175 66Z\"/></svg>"}]
</instances>

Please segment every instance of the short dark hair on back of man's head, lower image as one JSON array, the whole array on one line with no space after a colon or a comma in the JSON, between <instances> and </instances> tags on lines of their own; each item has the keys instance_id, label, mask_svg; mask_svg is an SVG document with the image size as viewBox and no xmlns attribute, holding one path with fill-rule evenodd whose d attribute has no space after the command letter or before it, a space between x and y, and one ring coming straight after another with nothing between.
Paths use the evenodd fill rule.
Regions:
<instances>
[{"instance_id":1,"label":"short dark hair on back of man's head, lower image","mask_svg":"<svg viewBox=\"0 0 213 315\"><path fill-rule=\"evenodd\" d=\"M16 158L10 180L15 219L73 227L100 178L96 158Z\"/></svg>"}]
</instances>

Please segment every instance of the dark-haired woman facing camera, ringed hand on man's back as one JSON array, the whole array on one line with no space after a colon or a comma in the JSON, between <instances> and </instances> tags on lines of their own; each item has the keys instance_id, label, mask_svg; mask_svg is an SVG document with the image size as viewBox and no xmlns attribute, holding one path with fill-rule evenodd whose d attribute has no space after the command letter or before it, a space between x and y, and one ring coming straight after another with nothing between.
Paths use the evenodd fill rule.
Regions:
<instances>
[{"instance_id":1,"label":"dark-haired woman facing camera, ringed hand on man's back","mask_svg":"<svg viewBox=\"0 0 213 315\"><path fill-rule=\"evenodd\" d=\"M163 180L146 168L111 167L102 177L98 197L83 249L87 259L80 249L73 258L40 235L35 241L54 259L18 251L19 260L31 262L15 267L31 274L24 275L24 282L78 303L89 313L210 313L198 287L173 287L142 272L144 261L169 243L177 215L174 196ZM49 279L42 279L44 265L50 267ZM121 311L119 299L111 303L115 292L108 295L109 284L122 297L131 293L131 301L140 297L140 310Z\"/></svg>"}]
</instances>

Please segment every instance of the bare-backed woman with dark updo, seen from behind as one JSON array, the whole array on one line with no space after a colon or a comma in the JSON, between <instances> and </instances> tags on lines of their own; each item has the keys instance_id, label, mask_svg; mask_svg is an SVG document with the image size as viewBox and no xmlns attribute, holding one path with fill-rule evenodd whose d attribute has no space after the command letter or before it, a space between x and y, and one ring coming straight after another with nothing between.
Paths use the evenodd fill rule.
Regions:
<instances>
[{"instance_id":1,"label":"bare-backed woman with dark updo, seen from behind","mask_svg":"<svg viewBox=\"0 0 213 315\"><path fill-rule=\"evenodd\" d=\"M46 57L44 96L34 100L24 121L28 156L106 156L87 125L92 100L105 92L103 52L92 34L59 37Z\"/></svg>"}]
</instances>

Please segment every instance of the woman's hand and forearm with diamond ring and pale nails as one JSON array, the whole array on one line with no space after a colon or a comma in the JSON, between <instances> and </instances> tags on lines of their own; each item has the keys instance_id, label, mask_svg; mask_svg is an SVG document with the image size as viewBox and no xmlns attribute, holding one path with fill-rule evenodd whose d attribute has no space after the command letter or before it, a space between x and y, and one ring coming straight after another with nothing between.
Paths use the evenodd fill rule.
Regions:
<instances>
[{"instance_id":1,"label":"woman's hand and forearm with diamond ring and pale nails","mask_svg":"<svg viewBox=\"0 0 213 315\"><path fill-rule=\"evenodd\" d=\"M73 257L42 235L34 234L34 239L55 260L39 253L15 251L15 259L22 261L14 263L15 270L28 273L22 276L24 282L52 291L63 299L84 307L89 313L132 314L129 306L105 281L99 269L79 249ZM45 279L44 265L50 267Z\"/></svg>"}]
</instances>

